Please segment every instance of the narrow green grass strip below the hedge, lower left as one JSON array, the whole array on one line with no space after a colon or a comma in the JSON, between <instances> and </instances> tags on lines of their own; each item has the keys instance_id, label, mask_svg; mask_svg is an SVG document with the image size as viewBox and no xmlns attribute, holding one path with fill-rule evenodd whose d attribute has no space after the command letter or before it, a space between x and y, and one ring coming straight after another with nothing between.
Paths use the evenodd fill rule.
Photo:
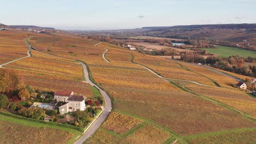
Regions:
<instances>
[{"instance_id":1,"label":"narrow green grass strip below the hedge, lower left","mask_svg":"<svg viewBox=\"0 0 256 144\"><path fill-rule=\"evenodd\" d=\"M13 122L13 123L25 125L27 127L36 127L36 128L47 127L47 128L59 129L59 130L67 131L69 133L73 133L74 136L72 137L72 139L68 140L67 143L74 143L75 141L77 141L77 137L80 137L82 135L82 133L80 131L77 131L77 130L74 130L71 128L59 127L57 125L51 125L51 124L46 124L46 123L27 121L24 119L9 117L9 116L5 116L2 114L0 114L0 121Z\"/></svg>"}]
</instances>

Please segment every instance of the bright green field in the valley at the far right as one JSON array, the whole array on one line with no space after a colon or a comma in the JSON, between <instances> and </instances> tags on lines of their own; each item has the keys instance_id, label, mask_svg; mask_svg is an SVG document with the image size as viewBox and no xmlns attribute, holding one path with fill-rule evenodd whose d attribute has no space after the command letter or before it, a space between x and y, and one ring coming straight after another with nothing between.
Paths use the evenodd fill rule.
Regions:
<instances>
[{"instance_id":1,"label":"bright green field in the valley at the far right","mask_svg":"<svg viewBox=\"0 0 256 144\"><path fill-rule=\"evenodd\" d=\"M216 46L215 49L205 48L201 50L206 50L210 53L215 53L221 57L229 57L240 55L241 57L254 57L256 58L256 51L250 51L246 49L240 49L237 47L229 47L229 46Z\"/></svg>"}]
</instances>

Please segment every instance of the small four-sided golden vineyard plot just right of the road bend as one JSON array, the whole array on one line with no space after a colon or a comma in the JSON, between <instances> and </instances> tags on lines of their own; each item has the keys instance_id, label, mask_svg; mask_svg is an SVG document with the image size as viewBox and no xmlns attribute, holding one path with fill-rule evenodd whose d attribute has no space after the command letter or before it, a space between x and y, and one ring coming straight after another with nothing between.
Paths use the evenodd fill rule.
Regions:
<instances>
[{"instance_id":1,"label":"small four-sided golden vineyard plot just right of the road bend","mask_svg":"<svg viewBox=\"0 0 256 144\"><path fill-rule=\"evenodd\" d=\"M142 121L137 118L112 112L110 113L108 120L103 123L102 128L113 131L114 133L124 134L127 130L134 128L140 123L142 123Z\"/></svg>"}]
</instances>

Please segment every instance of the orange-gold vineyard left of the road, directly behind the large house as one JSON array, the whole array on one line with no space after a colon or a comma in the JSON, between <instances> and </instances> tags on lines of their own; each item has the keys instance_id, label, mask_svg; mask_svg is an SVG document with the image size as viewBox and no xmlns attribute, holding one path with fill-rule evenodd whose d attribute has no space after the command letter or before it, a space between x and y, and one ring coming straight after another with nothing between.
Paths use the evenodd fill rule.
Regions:
<instances>
[{"instance_id":1,"label":"orange-gold vineyard left of the road, directly behind the large house","mask_svg":"<svg viewBox=\"0 0 256 144\"><path fill-rule=\"evenodd\" d=\"M22 41L25 43L24 41ZM32 57L5 65L16 71L21 82L41 91L71 89L77 94L90 98L92 91L83 83L82 66L73 59L61 58L37 51L31 51Z\"/></svg>"}]
</instances>

